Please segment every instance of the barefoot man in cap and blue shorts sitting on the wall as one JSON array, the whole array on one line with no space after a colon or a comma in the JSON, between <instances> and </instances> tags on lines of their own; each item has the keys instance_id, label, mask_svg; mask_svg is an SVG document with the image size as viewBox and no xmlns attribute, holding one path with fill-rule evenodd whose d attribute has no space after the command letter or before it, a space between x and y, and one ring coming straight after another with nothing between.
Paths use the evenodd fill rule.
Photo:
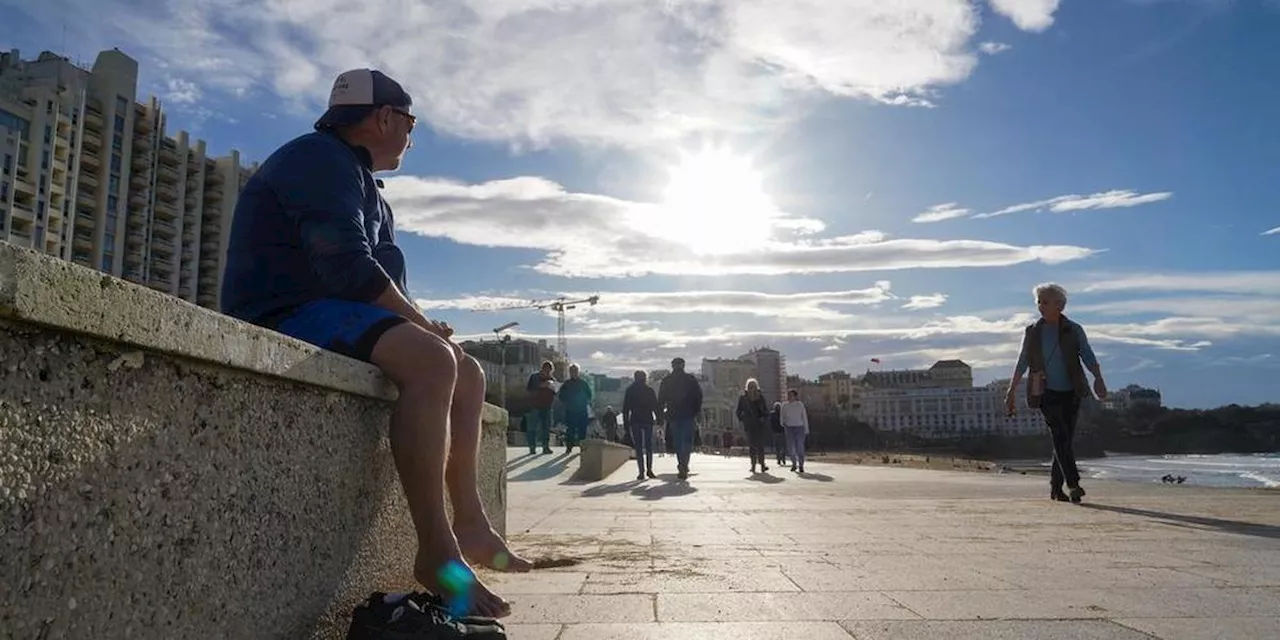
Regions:
<instances>
[{"instance_id":1,"label":"barefoot man in cap and blue shorts sitting on the wall","mask_svg":"<svg viewBox=\"0 0 1280 640\"><path fill-rule=\"evenodd\" d=\"M531 566L493 530L480 500L484 374L451 340L449 325L410 302L392 209L374 178L401 166L417 120L411 106L381 72L338 76L316 131L271 154L241 193L223 311L371 362L396 383L390 445L417 531L413 576L447 598L456 595L447 585L457 585L461 572L472 611L500 617L509 605L467 562L507 571Z\"/></svg>"}]
</instances>

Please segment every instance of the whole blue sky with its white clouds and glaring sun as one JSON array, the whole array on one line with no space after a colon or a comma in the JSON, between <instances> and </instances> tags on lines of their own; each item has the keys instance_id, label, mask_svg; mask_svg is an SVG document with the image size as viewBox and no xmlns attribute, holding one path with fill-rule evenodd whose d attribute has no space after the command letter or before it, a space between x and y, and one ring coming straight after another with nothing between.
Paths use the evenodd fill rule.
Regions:
<instances>
[{"instance_id":1,"label":"whole blue sky with its white clouds and glaring sun","mask_svg":"<svg viewBox=\"0 0 1280 640\"><path fill-rule=\"evenodd\" d=\"M1275 1L234 4L0 0L8 45L119 46L172 125L251 159L337 72L403 81L387 193L415 297L465 334L553 339L468 307L599 293L570 316L588 370L771 344L986 381L1053 280L1112 387L1280 401Z\"/></svg>"}]
</instances>

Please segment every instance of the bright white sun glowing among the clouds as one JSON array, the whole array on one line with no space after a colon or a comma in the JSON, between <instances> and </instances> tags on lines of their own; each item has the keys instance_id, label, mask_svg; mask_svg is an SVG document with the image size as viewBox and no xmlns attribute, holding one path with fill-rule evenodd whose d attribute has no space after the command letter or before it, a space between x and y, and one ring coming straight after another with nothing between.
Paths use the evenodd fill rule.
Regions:
<instances>
[{"instance_id":1,"label":"bright white sun glowing among the clouds","mask_svg":"<svg viewBox=\"0 0 1280 640\"><path fill-rule=\"evenodd\" d=\"M723 148L685 154L669 170L655 232L695 253L760 248L773 234L777 207L750 159Z\"/></svg>"}]
</instances>

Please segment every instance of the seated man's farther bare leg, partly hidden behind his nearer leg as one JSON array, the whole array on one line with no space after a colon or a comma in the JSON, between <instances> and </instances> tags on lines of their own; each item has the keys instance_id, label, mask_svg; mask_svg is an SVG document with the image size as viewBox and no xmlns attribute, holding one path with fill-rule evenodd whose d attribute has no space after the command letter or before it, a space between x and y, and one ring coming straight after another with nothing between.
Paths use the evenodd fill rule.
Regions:
<instances>
[{"instance_id":1,"label":"seated man's farther bare leg, partly hidden behind his nearer leg","mask_svg":"<svg viewBox=\"0 0 1280 640\"><path fill-rule=\"evenodd\" d=\"M452 442L445 479L453 502L453 531L462 553L477 564L498 571L530 571L532 563L511 552L507 541L493 530L480 500L477 484L480 460L480 412L484 406L484 371L471 356L458 349L458 378L449 413Z\"/></svg>"}]
</instances>

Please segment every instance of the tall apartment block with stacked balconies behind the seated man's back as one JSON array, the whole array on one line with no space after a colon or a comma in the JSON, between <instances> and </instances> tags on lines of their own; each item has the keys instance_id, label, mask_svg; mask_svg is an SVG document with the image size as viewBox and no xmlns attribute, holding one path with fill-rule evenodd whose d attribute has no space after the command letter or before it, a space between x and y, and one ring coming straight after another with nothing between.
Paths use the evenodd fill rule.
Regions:
<instances>
[{"instance_id":1,"label":"tall apartment block with stacked balconies behind the seated man's back","mask_svg":"<svg viewBox=\"0 0 1280 640\"><path fill-rule=\"evenodd\" d=\"M168 134L138 63L0 54L0 239L216 308L236 198L255 166Z\"/></svg>"}]
</instances>

